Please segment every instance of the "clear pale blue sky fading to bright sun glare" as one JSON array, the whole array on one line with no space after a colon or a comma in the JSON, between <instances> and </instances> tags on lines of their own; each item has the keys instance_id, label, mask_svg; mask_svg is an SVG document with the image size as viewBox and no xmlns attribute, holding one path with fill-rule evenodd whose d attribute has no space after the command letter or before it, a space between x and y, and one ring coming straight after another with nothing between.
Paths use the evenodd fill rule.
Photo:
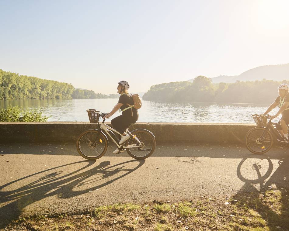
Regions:
<instances>
[{"instance_id":1,"label":"clear pale blue sky fading to bright sun glare","mask_svg":"<svg viewBox=\"0 0 289 231\"><path fill-rule=\"evenodd\" d=\"M0 69L97 93L289 63L289 1L0 0Z\"/></svg>"}]
</instances>

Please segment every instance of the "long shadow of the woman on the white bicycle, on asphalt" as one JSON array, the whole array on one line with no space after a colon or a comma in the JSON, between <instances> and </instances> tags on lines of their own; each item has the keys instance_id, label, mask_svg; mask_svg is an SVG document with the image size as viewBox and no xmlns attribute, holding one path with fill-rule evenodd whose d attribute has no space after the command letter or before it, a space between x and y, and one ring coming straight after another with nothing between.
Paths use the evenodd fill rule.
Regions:
<instances>
[{"instance_id":1,"label":"long shadow of the woman on the white bicycle, on asphalt","mask_svg":"<svg viewBox=\"0 0 289 231\"><path fill-rule=\"evenodd\" d=\"M132 162L136 162L137 165L126 168L126 166ZM63 174L65 167L83 163L87 164L73 172ZM145 163L145 160L130 160L112 166L110 166L110 161L103 161L99 165L92 167L95 163L95 160L84 160L65 164L31 174L0 186L0 203L2 205L4 204L4 206L0 208L0 229L4 228L5 225L12 220L18 219L23 209L34 202L55 195L60 199L72 198L96 190L97 188L102 188L132 173L141 167ZM86 170L88 167L92 168ZM37 180L31 181L29 184L17 189L9 190L9 188L13 186L13 188L15 188L13 184L18 183L21 185L21 181L35 179L37 175L40 175ZM115 177L111 179L113 175L115 175ZM106 181L106 178L110 180ZM97 184L97 181L101 182ZM91 186L86 186L85 189L75 191L75 189L78 189L80 186L88 184L91 184Z\"/></svg>"}]
</instances>

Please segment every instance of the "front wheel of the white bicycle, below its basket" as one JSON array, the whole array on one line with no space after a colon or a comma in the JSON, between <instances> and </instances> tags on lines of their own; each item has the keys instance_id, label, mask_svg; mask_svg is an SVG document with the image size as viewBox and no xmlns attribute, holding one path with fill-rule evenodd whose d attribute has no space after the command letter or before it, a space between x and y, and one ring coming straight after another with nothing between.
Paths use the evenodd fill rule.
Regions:
<instances>
[{"instance_id":1,"label":"front wheel of the white bicycle, below its basket","mask_svg":"<svg viewBox=\"0 0 289 231\"><path fill-rule=\"evenodd\" d=\"M106 137L98 130L87 130L78 137L76 146L83 158L96 160L104 155L108 143Z\"/></svg>"}]
</instances>

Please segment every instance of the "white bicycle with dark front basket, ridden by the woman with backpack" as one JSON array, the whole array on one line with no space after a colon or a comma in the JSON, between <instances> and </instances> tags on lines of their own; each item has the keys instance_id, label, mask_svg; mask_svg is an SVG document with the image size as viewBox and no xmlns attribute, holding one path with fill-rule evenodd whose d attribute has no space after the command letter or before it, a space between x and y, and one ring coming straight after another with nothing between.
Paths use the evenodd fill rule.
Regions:
<instances>
[{"instance_id":1,"label":"white bicycle with dark front basket, ridden by the woman with backpack","mask_svg":"<svg viewBox=\"0 0 289 231\"><path fill-rule=\"evenodd\" d=\"M95 109L86 110L90 123L97 123L99 129L89 129L83 132L77 139L77 151L85 159L96 160L102 157L107 150L109 141L107 136L111 138L113 143L117 145L120 151L126 150L127 153L135 159L148 158L155 150L155 136L146 129L135 129L130 132L125 131L131 137L122 144L114 133L121 135L115 129L106 125L104 116L106 113L100 113ZM99 122L102 117L103 121Z\"/></svg>"}]
</instances>

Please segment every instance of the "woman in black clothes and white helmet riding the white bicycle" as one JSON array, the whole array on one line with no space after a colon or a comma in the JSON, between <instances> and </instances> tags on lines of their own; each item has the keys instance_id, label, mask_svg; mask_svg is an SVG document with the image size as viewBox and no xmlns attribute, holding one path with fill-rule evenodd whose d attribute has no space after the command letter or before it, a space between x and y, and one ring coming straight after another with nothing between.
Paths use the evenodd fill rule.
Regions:
<instances>
[{"instance_id":1,"label":"woman in black clothes and white helmet riding the white bicycle","mask_svg":"<svg viewBox=\"0 0 289 231\"><path fill-rule=\"evenodd\" d=\"M121 134L121 139L119 144L124 143L130 138L128 134L125 133L125 130L138 120L138 110L131 105L134 105L133 98L128 94L128 88L130 85L127 81L120 81L117 86L117 93L120 94L117 105L109 112L105 118L109 118L119 109L122 110L122 115L117 116L111 120L112 126ZM124 150L123 150L124 151ZM122 152L123 152L122 151ZM119 150L116 149L113 153L118 153Z\"/></svg>"}]
</instances>

